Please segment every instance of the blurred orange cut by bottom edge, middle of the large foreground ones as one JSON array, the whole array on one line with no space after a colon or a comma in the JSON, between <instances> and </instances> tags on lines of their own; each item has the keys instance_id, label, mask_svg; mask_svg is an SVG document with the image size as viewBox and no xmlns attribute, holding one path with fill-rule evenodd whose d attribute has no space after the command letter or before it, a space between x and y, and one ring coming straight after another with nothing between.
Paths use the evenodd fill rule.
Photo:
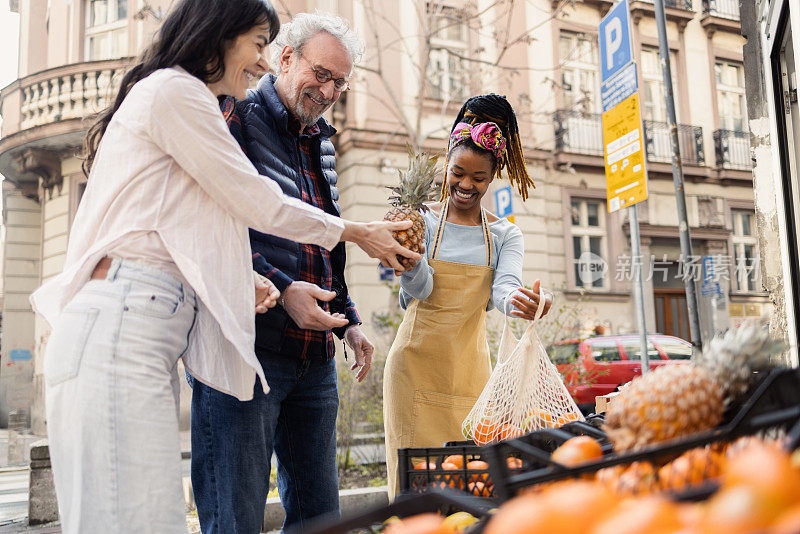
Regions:
<instances>
[{"instance_id":1,"label":"blurred orange cut by bottom edge, middle of the large foreground ones","mask_svg":"<svg viewBox=\"0 0 800 534\"><path fill-rule=\"evenodd\" d=\"M591 534L667 534L679 531L678 506L655 496L627 499L588 531Z\"/></svg>"}]
</instances>

